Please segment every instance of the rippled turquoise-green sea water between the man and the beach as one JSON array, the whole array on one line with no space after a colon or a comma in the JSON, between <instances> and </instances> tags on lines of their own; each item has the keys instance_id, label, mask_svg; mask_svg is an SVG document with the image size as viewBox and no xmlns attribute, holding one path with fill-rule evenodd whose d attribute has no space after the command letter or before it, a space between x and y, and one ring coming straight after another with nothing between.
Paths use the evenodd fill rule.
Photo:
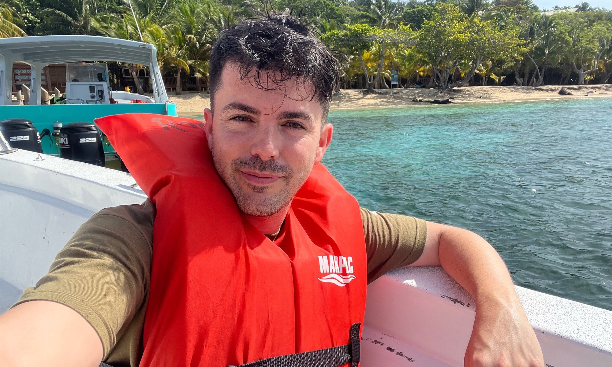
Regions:
<instances>
[{"instance_id":1,"label":"rippled turquoise-green sea water between the man and the beach","mask_svg":"<svg viewBox=\"0 0 612 367\"><path fill-rule=\"evenodd\" d=\"M612 99L336 110L362 207L474 231L515 284L612 310Z\"/></svg>"}]
</instances>

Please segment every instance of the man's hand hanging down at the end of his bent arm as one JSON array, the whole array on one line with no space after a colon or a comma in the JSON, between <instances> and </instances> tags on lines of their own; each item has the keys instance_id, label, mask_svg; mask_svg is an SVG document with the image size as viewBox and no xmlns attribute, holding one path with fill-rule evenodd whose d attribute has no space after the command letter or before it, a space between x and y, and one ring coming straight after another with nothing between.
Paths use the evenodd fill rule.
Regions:
<instances>
[{"instance_id":1,"label":"man's hand hanging down at the end of his bent arm","mask_svg":"<svg viewBox=\"0 0 612 367\"><path fill-rule=\"evenodd\" d=\"M476 305L464 360L465 367L544 367L540 344L518 299Z\"/></svg>"}]
</instances>

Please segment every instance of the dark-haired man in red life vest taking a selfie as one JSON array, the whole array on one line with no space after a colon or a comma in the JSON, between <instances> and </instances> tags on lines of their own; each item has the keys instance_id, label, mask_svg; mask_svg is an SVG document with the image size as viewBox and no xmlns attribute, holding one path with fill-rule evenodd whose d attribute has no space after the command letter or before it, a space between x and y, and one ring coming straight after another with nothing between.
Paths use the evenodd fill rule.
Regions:
<instances>
[{"instance_id":1,"label":"dark-haired man in red life vest taking a selfie","mask_svg":"<svg viewBox=\"0 0 612 367\"><path fill-rule=\"evenodd\" d=\"M204 165L209 164L208 158L201 158L206 174L198 178L206 180L211 190L217 191L215 195L206 196L206 201L195 203L196 211L200 209L209 215L206 223L214 223L216 228L207 224L207 230L214 234L212 237L211 232L201 234L206 243L198 251L205 252L211 243L223 246L223 241L228 238L231 240L226 241L225 249L234 250L215 248L212 251L215 255L210 256L229 256L235 258L238 264L244 259L236 248L240 251L255 248L249 247L249 243L245 247L236 247L234 242L244 240L245 235L236 237L233 232L240 232L245 233L246 237L265 235L259 239L263 245L257 248L274 245L275 248L267 247L267 251L274 250L272 258L278 253L285 254L285 258L269 262L265 267L258 267L255 263L240 265L243 267L239 267L239 270L244 274L239 281L231 280L228 275L227 278L209 282L210 279L190 270L189 274L182 274L185 276L183 283L190 282L189 287L179 281L169 283L174 286L164 288L159 286L160 282L165 281L164 276L173 278L174 273L184 270L175 266L163 276L159 273L160 267L173 261L172 251L167 250L168 245L174 243L168 243L163 235L168 235L168 231L174 229L168 229L166 224L173 221L169 217L174 214L181 216L181 210L187 210L176 207L176 212L172 212L173 208L168 210L166 207L171 206L168 203L174 203L173 200L190 208L193 205L190 206L187 198L180 195L177 198L178 194L159 198L158 193L155 194L158 195L157 199L149 195L152 200L157 200L157 208L147 201L141 206L104 209L73 235L56 257L49 273L36 287L28 288L17 305L0 316L0 365L95 367L100 361L113 366L168 365L170 361L166 357L176 354L187 359L175 360L174 365L225 366L250 362L262 350L267 352L261 352L259 357L274 357L278 355L275 351L286 347L277 344L288 344L288 349L293 353L319 349L298 345L314 345L320 342L319 339L323 340L321 349L327 344L329 347L346 344L348 340L327 341L334 335L344 335L344 330L338 334L335 334L337 330L330 330L330 335L327 335L324 328L319 328L311 337L308 335L312 333L308 330L309 325L304 322L300 324L299 321L291 326L290 333L283 335L286 340L279 341L278 334L282 334L283 330L278 329L277 320L283 316L277 312L276 303L280 302L275 300L274 305L266 304L266 297L273 298L271 291L265 287L274 287L274 282L278 283L279 288L284 287L291 279L275 278L264 283L253 283L249 278L277 271L282 273L275 269L276 265L283 267L291 264L293 270L289 269L288 278L294 271L293 281L304 283L300 270L294 264L300 258L296 251L299 252L302 249L299 246L303 245L310 246L308 249L314 249L312 251L330 253L329 262L326 256L318 256L316 272L319 265L323 272L326 264L332 266L335 261L334 269L343 270L338 272L343 274L343 278L336 281L346 284L338 283L340 287L337 287L332 284L334 280L322 277L319 279L321 282L308 278L305 284L294 286L300 291L312 288L316 289L313 292L346 292L346 297L350 297L346 299L350 302L344 306L337 305L338 302L332 304L342 310L350 308L353 303L359 304L356 313L347 317L346 325L353 321L358 323L359 314L363 313L365 299L363 295L359 298L359 292L355 290L365 287L366 276L367 281L371 282L396 267L441 265L476 300L476 320L466 350L465 365L543 367L542 352L515 294L510 275L501 258L485 240L472 232L443 224L359 209L353 206L354 199L343 192L329 173L318 165L332 139L333 127L326 124L326 117L340 70L341 65L312 30L288 15L246 20L222 32L211 56L211 109L204 110L206 139L210 149L209 152L206 150L206 154L211 157L212 171L216 171L206 171ZM370 124L369 128L375 128L372 122L364 123ZM226 193L231 202L217 199ZM318 204L312 204L316 198L310 196L319 194L328 196ZM334 206L338 202L341 207ZM217 212L211 206L217 206ZM231 210L227 211L223 206L236 207L238 219L231 223L216 221L230 215ZM215 218L217 213L218 217ZM355 218L358 221L356 225ZM324 223L326 220L331 223ZM176 233L197 230L193 228L194 224L188 222L172 223L182 223L184 226ZM155 240L152 237L153 228ZM159 236L160 233L163 235ZM308 234L312 233L319 237L329 235L329 239L310 239ZM348 239L343 235L338 236L338 233L349 236L359 234L362 239L353 244L344 244L343 241ZM175 246L176 251L193 247L193 241L177 241L181 247ZM338 252L319 242L337 243L340 250ZM356 244L360 244L360 247ZM296 247L291 248L293 245ZM355 255L355 264L353 258L346 256L342 246L353 246L351 250L361 251L359 256ZM160 251L166 251L163 254L169 258L160 256ZM367 259L367 275L362 269L364 267L357 264L362 255L364 262ZM196 258L201 253L190 256ZM220 257L204 259L204 265L217 266L216 261ZM258 261L261 259L258 258ZM317 256L314 256L312 261L316 262L316 259ZM191 261L191 258L185 261ZM185 262L183 265L189 264ZM222 265L232 267L236 264L230 261ZM353 271L347 271L353 270L353 267L359 268L355 271L363 272L364 276L362 273L355 276L352 275ZM205 273L206 269L201 271ZM207 274L212 276L213 273ZM230 285L224 292L223 289L209 288L207 282ZM242 289L243 285L249 289ZM176 287L180 292L176 291ZM361 290L365 292L365 289ZM220 293L211 296L207 294L209 291ZM185 293L191 292L195 292L197 297L185 298ZM177 299L165 297L167 294ZM203 297L210 297L215 302L209 298L202 301ZM261 309L250 310L252 304L238 297L256 299L254 302L258 302ZM284 302L302 302L297 299L301 297L297 291L295 297L293 301L285 299ZM338 297L345 297L345 294ZM185 302L187 299L200 302L198 305L202 309L182 314L184 308L191 307L190 302ZM174 311L181 313L178 319L176 314L164 312L164 308L172 306L173 302L181 305L174 308ZM318 300L310 302L316 306ZM242 306L228 308L234 303ZM294 316L296 319L302 316L323 317L329 319L330 325L335 317L343 317L326 314L326 311L310 315L307 311L291 307L287 310L295 313L291 320ZM229 317L231 322L217 325L214 317ZM253 317L254 321L242 325L245 317ZM206 319L206 322L194 324L200 319ZM176 324L181 322L184 325L179 330L185 330L184 338L183 335L176 335ZM250 334L246 329L251 326L261 327L264 333ZM312 327L316 328L315 325ZM203 334L202 330L206 333ZM192 333L193 338L188 337ZM229 335L231 338L215 338L214 335ZM172 340L168 341L168 338ZM268 339L274 345L268 345ZM168 347L168 343L174 344ZM236 350L241 352L236 353Z\"/></svg>"}]
</instances>

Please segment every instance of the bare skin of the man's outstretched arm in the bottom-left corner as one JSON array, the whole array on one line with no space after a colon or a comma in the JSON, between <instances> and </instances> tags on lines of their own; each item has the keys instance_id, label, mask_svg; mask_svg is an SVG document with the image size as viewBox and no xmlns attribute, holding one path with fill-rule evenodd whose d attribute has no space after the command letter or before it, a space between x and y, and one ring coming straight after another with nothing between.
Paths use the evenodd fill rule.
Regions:
<instances>
[{"instance_id":1,"label":"bare skin of the man's outstretched arm in the bottom-left corner","mask_svg":"<svg viewBox=\"0 0 612 367\"><path fill-rule=\"evenodd\" d=\"M0 315L2 367L97 367L102 353L94 328L61 303L31 301Z\"/></svg>"}]
</instances>

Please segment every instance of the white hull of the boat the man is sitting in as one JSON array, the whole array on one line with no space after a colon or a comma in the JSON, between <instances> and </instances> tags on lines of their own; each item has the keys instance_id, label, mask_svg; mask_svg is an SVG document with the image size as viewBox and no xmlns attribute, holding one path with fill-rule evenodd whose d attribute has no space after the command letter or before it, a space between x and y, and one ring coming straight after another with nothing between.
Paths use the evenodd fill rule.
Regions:
<instances>
[{"instance_id":1,"label":"white hull of the boat the man is sitting in","mask_svg":"<svg viewBox=\"0 0 612 367\"><path fill-rule=\"evenodd\" d=\"M129 174L18 150L0 155L0 312L104 207L144 201ZM612 366L612 311L517 287L549 367ZM471 296L436 267L368 286L362 367L463 366Z\"/></svg>"}]
</instances>

